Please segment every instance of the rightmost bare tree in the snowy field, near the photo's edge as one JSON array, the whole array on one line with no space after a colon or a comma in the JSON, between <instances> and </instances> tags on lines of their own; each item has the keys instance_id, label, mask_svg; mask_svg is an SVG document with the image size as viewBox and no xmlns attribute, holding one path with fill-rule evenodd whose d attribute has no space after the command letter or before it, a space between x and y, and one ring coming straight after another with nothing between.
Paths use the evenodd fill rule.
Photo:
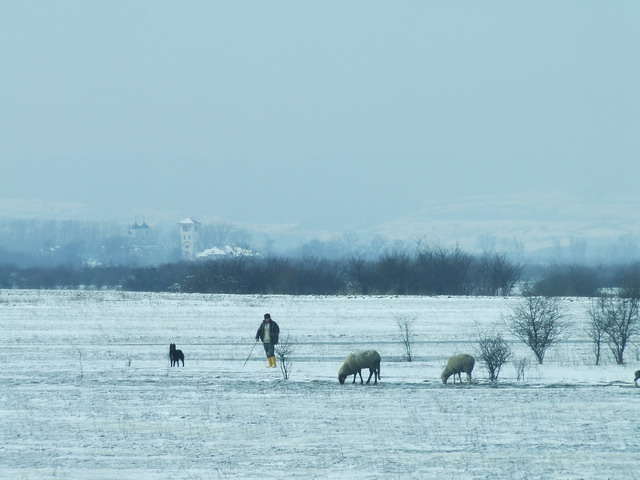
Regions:
<instances>
[{"instance_id":1,"label":"rightmost bare tree in the snowy field, near the photo's edge","mask_svg":"<svg viewBox=\"0 0 640 480\"><path fill-rule=\"evenodd\" d=\"M618 365L624 363L624 351L640 331L639 308L637 297L603 296L589 310L591 328L602 331Z\"/></svg>"}]
</instances>

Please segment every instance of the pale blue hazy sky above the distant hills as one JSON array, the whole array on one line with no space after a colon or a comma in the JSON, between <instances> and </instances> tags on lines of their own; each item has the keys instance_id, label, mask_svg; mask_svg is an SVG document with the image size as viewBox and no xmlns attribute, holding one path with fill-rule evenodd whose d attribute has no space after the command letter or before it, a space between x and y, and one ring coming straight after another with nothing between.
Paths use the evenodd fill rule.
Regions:
<instances>
[{"instance_id":1,"label":"pale blue hazy sky above the distant hills","mask_svg":"<svg viewBox=\"0 0 640 480\"><path fill-rule=\"evenodd\" d=\"M2 2L0 212L347 230L635 194L639 25L636 1Z\"/></svg>"}]
</instances>

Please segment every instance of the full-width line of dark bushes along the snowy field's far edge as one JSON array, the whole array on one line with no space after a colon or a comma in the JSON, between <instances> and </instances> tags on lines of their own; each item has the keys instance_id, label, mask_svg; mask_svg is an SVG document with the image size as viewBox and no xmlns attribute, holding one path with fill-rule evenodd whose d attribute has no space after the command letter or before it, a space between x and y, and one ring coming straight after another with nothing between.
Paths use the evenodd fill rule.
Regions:
<instances>
[{"instance_id":1,"label":"full-width line of dark bushes along the snowy field's far edge","mask_svg":"<svg viewBox=\"0 0 640 480\"><path fill-rule=\"evenodd\" d=\"M350 257L235 257L153 267L17 268L0 265L0 288L122 289L150 292L289 295L510 295L525 282L535 295L596 296L603 288L640 291L640 263L525 266L504 254L458 248Z\"/></svg>"}]
</instances>

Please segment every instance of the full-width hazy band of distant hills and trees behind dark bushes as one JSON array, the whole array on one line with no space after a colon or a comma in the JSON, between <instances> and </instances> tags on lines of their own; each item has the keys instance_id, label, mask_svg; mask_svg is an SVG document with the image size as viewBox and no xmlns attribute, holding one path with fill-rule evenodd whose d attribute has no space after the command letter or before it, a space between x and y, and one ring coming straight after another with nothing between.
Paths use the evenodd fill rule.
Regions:
<instances>
[{"instance_id":1,"label":"full-width hazy band of distant hills and trees behind dark bushes","mask_svg":"<svg viewBox=\"0 0 640 480\"><path fill-rule=\"evenodd\" d=\"M430 200L395 218L375 220L375 212L366 212L350 224L322 229L305 219L294 224L200 220L206 227L204 248L234 245L263 255L376 256L389 248L428 244L459 246L471 253L500 251L525 261L625 262L640 259L638 212L640 200L633 196L585 199L568 194L516 194ZM46 213L0 218L0 261L18 257L25 264L131 260L129 219L82 221ZM155 213L147 218L156 247L135 249L136 262L179 257L178 217Z\"/></svg>"}]
</instances>

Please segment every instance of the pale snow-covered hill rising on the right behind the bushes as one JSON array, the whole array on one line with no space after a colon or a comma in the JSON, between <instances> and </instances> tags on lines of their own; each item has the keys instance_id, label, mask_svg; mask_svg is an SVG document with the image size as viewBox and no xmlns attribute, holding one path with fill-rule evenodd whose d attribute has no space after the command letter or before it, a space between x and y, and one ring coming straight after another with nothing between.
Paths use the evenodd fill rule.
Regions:
<instances>
[{"instance_id":1,"label":"pale snow-covered hill rising on the right behind the bushes","mask_svg":"<svg viewBox=\"0 0 640 480\"><path fill-rule=\"evenodd\" d=\"M371 233L413 237L470 250L527 257L638 257L637 200L584 200L570 195L496 195L432 202Z\"/></svg>"}]
</instances>

